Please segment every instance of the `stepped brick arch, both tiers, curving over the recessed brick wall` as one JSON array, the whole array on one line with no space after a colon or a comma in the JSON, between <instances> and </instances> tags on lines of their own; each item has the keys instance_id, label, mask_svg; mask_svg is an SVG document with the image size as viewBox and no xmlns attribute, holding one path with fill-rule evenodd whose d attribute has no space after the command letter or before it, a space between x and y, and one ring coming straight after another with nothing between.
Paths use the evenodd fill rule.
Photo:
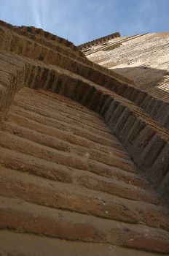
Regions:
<instances>
[{"instance_id":1,"label":"stepped brick arch, both tiers, curving over the recessed brick wall","mask_svg":"<svg viewBox=\"0 0 169 256\"><path fill-rule=\"evenodd\" d=\"M8 37L10 33L7 31ZM1 53L4 61L1 72L5 78L4 86L3 80L1 82L1 117L7 113L16 91L23 86L49 90L80 102L101 113L139 170L168 199L168 129L162 128L131 99L131 95L137 94L142 102L147 94L112 78L108 69L96 64L91 67L90 61L61 45L57 45L54 52L49 45L47 48L47 42L45 47L39 45L36 37L35 42L23 40L17 34L11 34L11 37L10 47L5 44L5 39L2 42L6 52ZM28 50L31 48L33 50ZM39 56L43 56L43 61L38 61ZM12 72L6 72L7 69Z\"/></svg>"}]
</instances>

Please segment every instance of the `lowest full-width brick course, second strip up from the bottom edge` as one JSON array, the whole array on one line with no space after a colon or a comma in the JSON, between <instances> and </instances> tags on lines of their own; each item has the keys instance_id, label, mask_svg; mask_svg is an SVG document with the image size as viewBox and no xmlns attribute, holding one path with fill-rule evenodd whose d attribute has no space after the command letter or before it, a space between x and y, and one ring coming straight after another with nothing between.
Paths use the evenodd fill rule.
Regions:
<instances>
[{"instance_id":1,"label":"lowest full-width brick course, second strip up from the bottom edge","mask_svg":"<svg viewBox=\"0 0 169 256\"><path fill-rule=\"evenodd\" d=\"M14 198L0 197L0 202L1 229L8 227L17 233L34 233L71 241L117 244L152 252L169 251L169 237L164 230L84 216Z\"/></svg>"}]
</instances>

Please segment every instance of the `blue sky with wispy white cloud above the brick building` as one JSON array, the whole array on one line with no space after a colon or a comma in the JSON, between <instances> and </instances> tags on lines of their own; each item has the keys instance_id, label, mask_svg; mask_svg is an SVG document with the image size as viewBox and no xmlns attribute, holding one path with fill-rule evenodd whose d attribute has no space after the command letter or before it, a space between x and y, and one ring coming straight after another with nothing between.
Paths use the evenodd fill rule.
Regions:
<instances>
[{"instance_id":1,"label":"blue sky with wispy white cloud above the brick building","mask_svg":"<svg viewBox=\"0 0 169 256\"><path fill-rule=\"evenodd\" d=\"M40 27L79 45L115 31L168 31L169 0L0 0L0 20Z\"/></svg>"}]
</instances>

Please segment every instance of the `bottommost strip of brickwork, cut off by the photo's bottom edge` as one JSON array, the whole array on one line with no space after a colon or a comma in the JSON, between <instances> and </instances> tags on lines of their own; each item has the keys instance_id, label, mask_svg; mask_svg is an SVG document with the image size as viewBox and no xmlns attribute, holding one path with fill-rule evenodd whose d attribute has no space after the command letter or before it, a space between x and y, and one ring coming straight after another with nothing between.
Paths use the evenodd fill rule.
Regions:
<instances>
[{"instance_id":1,"label":"bottommost strip of brickwork, cut off by the photo's bottom edge","mask_svg":"<svg viewBox=\"0 0 169 256\"><path fill-rule=\"evenodd\" d=\"M11 231L0 231L0 252L4 256L23 255L60 255L60 256L154 256L151 252L143 252L135 249L127 249L111 244L82 243L80 241L66 241L57 238L39 237L30 234L18 234ZM10 243L9 243L10 241ZM16 252L17 244L17 252ZM31 244L31 246L30 246Z\"/></svg>"}]
</instances>

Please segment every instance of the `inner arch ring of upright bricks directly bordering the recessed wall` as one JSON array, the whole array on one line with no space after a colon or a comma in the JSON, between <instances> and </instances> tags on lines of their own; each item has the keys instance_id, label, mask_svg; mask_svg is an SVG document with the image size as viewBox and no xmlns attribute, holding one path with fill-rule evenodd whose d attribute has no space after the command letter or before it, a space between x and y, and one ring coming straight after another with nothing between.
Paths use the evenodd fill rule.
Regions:
<instances>
[{"instance_id":1,"label":"inner arch ring of upright bricks directly bordering the recessed wall","mask_svg":"<svg viewBox=\"0 0 169 256\"><path fill-rule=\"evenodd\" d=\"M162 130L144 113L137 113L137 109L126 99L88 80L81 80L68 70L49 69L37 64L25 67L25 79L20 76L25 86L55 92L100 113L114 135L130 152L139 170L156 189L162 189L160 184L169 166L167 130ZM20 81L17 83L20 85ZM165 189L162 192L168 191L168 188Z\"/></svg>"}]
</instances>

